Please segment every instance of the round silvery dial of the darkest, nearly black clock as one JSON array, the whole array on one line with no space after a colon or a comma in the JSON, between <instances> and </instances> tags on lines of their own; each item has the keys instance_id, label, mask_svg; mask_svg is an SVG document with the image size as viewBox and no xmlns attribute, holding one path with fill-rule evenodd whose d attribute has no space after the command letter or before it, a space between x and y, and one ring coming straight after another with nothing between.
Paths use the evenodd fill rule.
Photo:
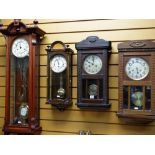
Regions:
<instances>
[{"instance_id":1,"label":"round silvery dial of the darkest, nearly black clock","mask_svg":"<svg viewBox=\"0 0 155 155\"><path fill-rule=\"evenodd\" d=\"M97 55L89 55L83 62L83 69L88 74L97 74L102 69L102 60Z\"/></svg>"}]
</instances>

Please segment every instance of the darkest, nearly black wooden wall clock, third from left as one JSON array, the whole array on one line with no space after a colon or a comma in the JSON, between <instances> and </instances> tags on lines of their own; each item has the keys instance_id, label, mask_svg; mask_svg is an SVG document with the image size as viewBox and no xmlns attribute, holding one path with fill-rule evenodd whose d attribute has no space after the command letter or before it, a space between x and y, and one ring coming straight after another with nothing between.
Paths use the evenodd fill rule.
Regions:
<instances>
[{"instance_id":1,"label":"darkest, nearly black wooden wall clock, third from left","mask_svg":"<svg viewBox=\"0 0 155 155\"><path fill-rule=\"evenodd\" d=\"M96 36L76 44L79 108L109 108L108 54L111 42Z\"/></svg>"}]
</instances>

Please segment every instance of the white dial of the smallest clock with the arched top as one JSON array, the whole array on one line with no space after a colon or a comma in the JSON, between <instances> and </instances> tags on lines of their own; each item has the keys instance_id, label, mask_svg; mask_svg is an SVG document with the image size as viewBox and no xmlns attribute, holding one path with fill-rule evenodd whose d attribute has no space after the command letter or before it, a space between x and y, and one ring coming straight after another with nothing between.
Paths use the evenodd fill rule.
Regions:
<instances>
[{"instance_id":1,"label":"white dial of the smallest clock with the arched top","mask_svg":"<svg viewBox=\"0 0 155 155\"><path fill-rule=\"evenodd\" d=\"M67 68L67 61L62 55L55 55L50 61L50 67L53 72L61 73Z\"/></svg>"}]
</instances>

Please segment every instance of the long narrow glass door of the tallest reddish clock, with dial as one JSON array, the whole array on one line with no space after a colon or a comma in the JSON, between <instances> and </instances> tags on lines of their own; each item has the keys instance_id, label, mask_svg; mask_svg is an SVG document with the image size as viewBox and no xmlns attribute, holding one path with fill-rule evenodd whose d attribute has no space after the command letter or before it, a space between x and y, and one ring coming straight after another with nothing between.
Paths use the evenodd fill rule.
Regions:
<instances>
[{"instance_id":1,"label":"long narrow glass door of the tallest reddish clock, with dial","mask_svg":"<svg viewBox=\"0 0 155 155\"><path fill-rule=\"evenodd\" d=\"M18 40L10 54L10 123L28 125L29 45Z\"/></svg>"}]
</instances>

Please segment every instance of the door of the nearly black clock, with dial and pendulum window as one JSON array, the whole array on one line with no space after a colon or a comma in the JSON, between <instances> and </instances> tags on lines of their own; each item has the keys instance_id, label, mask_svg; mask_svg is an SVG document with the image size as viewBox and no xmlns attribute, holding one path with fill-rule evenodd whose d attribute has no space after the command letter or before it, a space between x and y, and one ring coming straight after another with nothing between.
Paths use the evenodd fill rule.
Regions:
<instances>
[{"instance_id":1,"label":"door of the nearly black clock, with dial and pendulum window","mask_svg":"<svg viewBox=\"0 0 155 155\"><path fill-rule=\"evenodd\" d=\"M90 102L103 100L102 54L84 54L82 62L82 98Z\"/></svg>"}]
</instances>

